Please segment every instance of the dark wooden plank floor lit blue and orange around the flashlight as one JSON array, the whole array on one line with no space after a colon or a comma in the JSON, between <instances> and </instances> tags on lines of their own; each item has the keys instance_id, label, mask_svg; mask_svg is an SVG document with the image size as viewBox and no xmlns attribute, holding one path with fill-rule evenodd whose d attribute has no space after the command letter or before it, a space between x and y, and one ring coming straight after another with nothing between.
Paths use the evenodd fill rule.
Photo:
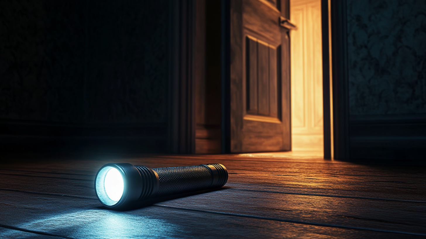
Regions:
<instances>
[{"instance_id":1,"label":"dark wooden plank floor lit blue and orange around the flashlight","mask_svg":"<svg viewBox=\"0 0 426 239\"><path fill-rule=\"evenodd\" d=\"M112 211L101 207L93 189L95 173L109 162L152 168L222 163L229 180L220 190ZM426 237L424 167L287 152L28 158L2 163L0 175L2 239Z\"/></svg>"}]
</instances>

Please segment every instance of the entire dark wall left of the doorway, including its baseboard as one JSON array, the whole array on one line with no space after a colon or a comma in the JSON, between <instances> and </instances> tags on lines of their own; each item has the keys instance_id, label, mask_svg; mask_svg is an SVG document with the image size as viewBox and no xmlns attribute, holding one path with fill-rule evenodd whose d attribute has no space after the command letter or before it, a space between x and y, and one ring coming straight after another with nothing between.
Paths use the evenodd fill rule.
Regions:
<instances>
[{"instance_id":1,"label":"entire dark wall left of the doorway, including its baseboard","mask_svg":"<svg viewBox=\"0 0 426 239\"><path fill-rule=\"evenodd\" d=\"M0 146L167 147L169 1L0 1Z\"/></svg>"}]
</instances>

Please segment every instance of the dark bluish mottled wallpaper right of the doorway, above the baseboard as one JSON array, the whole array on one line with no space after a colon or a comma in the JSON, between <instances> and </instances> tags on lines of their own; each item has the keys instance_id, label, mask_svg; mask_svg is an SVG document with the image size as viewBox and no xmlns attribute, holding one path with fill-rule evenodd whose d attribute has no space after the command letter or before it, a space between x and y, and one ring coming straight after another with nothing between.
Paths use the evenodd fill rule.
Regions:
<instances>
[{"instance_id":1,"label":"dark bluish mottled wallpaper right of the doorway, above the baseboard","mask_svg":"<svg viewBox=\"0 0 426 239\"><path fill-rule=\"evenodd\" d=\"M350 114L426 113L426 1L347 6Z\"/></svg>"}]
</instances>

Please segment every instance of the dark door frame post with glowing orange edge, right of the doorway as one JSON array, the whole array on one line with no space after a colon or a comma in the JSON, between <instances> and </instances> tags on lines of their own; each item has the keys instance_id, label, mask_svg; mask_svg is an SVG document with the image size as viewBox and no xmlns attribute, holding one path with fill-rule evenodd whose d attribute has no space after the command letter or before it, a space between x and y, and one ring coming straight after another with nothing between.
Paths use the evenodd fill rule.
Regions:
<instances>
[{"instance_id":1,"label":"dark door frame post with glowing orange edge, right of the doorway","mask_svg":"<svg viewBox=\"0 0 426 239\"><path fill-rule=\"evenodd\" d=\"M321 0L321 17L324 158L347 159L349 97L346 2Z\"/></svg>"}]
</instances>

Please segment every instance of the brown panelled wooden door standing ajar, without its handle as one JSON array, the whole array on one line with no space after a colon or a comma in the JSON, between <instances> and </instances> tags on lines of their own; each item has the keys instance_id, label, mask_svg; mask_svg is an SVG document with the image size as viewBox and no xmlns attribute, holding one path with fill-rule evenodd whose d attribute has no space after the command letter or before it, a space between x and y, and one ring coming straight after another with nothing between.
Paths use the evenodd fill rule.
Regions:
<instances>
[{"instance_id":1,"label":"brown panelled wooden door standing ajar, without its handle","mask_svg":"<svg viewBox=\"0 0 426 239\"><path fill-rule=\"evenodd\" d=\"M288 1L283 0L283 3ZM288 4L230 1L230 152L291 150Z\"/></svg>"}]
</instances>

